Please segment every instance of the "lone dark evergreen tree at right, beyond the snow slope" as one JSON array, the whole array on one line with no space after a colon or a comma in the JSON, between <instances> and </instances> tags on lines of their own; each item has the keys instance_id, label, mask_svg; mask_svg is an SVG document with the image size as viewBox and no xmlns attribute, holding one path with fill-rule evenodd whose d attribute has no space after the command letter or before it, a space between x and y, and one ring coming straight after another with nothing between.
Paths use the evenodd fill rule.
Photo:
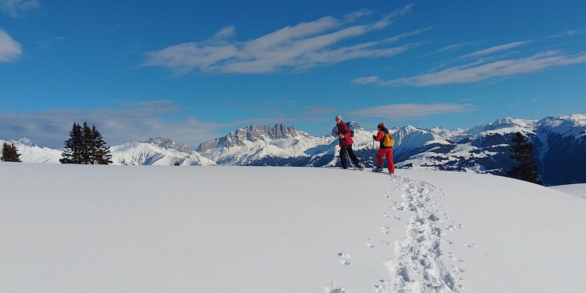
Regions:
<instances>
[{"instance_id":1,"label":"lone dark evergreen tree at right, beyond the snow slope","mask_svg":"<svg viewBox=\"0 0 586 293\"><path fill-rule=\"evenodd\" d=\"M513 142L515 145L511 147L511 158L515 160L515 166L505 176L543 185L543 182L537 180L539 169L536 159L533 158L533 144L521 132L517 132Z\"/></svg>"}]
</instances>

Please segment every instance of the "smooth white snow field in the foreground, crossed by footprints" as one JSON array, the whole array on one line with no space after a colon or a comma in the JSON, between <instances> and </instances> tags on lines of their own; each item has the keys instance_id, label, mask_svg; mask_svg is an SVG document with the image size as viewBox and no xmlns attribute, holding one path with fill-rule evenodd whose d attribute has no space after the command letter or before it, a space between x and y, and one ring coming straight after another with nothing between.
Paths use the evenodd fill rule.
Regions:
<instances>
[{"instance_id":1,"label":"smooth white snow field in the foreground, crossed by footprints","mask_svg":"<svg viewBox=\"0 0 586 293\"><path fill-rule=\"evenodd\" d=\"M509 178L32 163L0 178L2 292L586 288L586 200Z\"/></svg>"}]
</instances>

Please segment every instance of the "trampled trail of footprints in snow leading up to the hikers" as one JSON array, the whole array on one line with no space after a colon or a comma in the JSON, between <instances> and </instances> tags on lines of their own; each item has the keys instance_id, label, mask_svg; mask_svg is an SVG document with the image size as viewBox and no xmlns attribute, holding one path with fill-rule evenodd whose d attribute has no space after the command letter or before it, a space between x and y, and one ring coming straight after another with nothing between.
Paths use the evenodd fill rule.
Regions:
<instances>
[{"instance_id":1,"label":"trampled trail of footprints in snow leading up to the hikers","mask_svg":"<svg viewBox=\"0 0 586 293\"><path fill-rule=\"evenodd\" d=\"M388 258L391 279L381 280L377 293L461 293L462 272L452 264L458 260L453 255L444 255L441 246L449 243L442 239L444 230L459 229L458 225L446 226L441 216L446 216L435 206L441 195L434 185L413 179L391 175L397 187L403 190L401 207L408 214L406 235L394 244L394 253Z\"/></svg>"}]
</instances>

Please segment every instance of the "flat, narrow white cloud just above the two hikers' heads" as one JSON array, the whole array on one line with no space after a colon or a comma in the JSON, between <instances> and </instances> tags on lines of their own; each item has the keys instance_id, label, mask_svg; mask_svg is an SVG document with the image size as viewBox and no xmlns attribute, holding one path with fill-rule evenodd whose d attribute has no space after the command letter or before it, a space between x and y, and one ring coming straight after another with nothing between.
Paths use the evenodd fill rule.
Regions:
<instances>
[{"instance_id":1,"label":"flat, narrow white cloud just above the two hikers' heads","mask_svg":"<svg viewBox=\"0 0 586 293\"><path fill-rule=\"evenodd\" d=\"M350 111L345 115L363 118L385 118L401 120L406 118L427 117L431 115L462 113L475 108L473 104L390 104L377 107L362 108Z\"/></svg>"}]
</instances>

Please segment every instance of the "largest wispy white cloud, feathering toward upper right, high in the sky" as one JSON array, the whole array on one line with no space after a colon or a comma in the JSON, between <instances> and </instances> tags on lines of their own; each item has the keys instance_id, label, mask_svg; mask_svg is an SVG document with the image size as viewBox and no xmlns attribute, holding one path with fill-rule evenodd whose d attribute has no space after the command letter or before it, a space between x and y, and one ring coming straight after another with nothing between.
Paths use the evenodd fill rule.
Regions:
<instances>
[{"instance_id":1,"label":"largest wispy white cloud, feathering toward upper right, high in the sky","mask_svg":"<svg viewBox=\"0 0 586 293\"><path fill-rule=\"evenodd\" d=\"M389 26L394 18L410 12L412 6L407 5L389 13L379 21L366 24L348 25L347 23L368 15L367 11L350 13L342 21L325 16L316 21L285 26L247 42L223 40L234 34L234 27L226 26L210 39L148 52L142 65L164 67L176 74L185 74L194 70L207 73L253 74L305 69L349 59L394 56L422 43L411 43L399 47L388 47L387 43L417 35L429 28L375 42L346 47L335 46L341 40L362 36Z\"/></svg>"}]
</instances>

